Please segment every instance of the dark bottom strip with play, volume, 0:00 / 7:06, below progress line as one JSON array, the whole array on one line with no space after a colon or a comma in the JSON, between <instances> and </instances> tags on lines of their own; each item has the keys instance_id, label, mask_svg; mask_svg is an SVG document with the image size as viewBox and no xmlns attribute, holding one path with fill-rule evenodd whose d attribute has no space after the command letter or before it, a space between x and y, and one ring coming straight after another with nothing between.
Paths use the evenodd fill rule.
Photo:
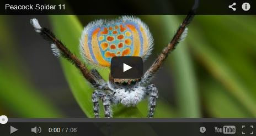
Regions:
<instances>
[{"instance_id":1,"label":"dark bottom strip with play, volume, 0:00 / 7:06, below progress line","mask_svg":"<svg viewBox=\"0 0 256 136\"><path fill-rule=\"evenodd\" d=\"M111 135L126 133L133 136L145 133L146 135L184 136L254 135L255 127L255 122L8 122L0 126L0 131L3 135L41 134L46 136L106 135L108 133L112 133Z\"/></svg>"}]
</instances>

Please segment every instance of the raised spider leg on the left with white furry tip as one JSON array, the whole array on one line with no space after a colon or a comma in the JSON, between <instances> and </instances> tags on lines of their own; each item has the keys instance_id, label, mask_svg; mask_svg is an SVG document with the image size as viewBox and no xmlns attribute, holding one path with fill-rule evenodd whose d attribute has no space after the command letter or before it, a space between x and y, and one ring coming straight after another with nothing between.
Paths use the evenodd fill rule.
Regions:
<instances>
[{"instance_id":1,"label":"raised spider leg on the left with white furry tip","mask_svg":"<svg viewBox=\"0 0 256 136\"><path fill-rule=\"evenodd\" d=\"M54 33L52 33L49 29L45 27L41 27L37 19L31 19L30 24L33 25L36 32L40 33L43 38L50 42L52 52L55 56L61 56L62 58L70 61L82 72L84 78L86 78L93 87L100 89L100 83L98 81L98 78L100 78L101 76L99 74L97 75L97 77L93 75L93 73L86 68L86 66L77 58L77 56L71 53L70 50L59 39L56 38Z\"/></svg>"}]
</instances>

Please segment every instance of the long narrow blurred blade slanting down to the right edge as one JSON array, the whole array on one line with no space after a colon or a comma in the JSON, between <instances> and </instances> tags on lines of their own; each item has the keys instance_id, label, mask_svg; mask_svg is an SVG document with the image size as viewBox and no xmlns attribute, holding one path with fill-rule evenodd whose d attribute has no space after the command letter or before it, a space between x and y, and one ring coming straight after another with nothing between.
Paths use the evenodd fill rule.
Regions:
<instances>
[{"instance_id":1,"label":"long narrow blurred blade slanting down to the right edge","mask_svg":"<svg viewBox=\"0 0 256 136\"><path fill-rule=\"evenodd\" d=\"M253 117L256 117L255 100L252 98L252 92L249 91L249 88L242 82L237 73L233 71L232 67L226 63L227 60L223 58L222 54L215 51L214 45L206 42L207 37L202 35L200 29L195 29L197 27L190 28L193 35L188 37L188 39L191 43L191 50L196 58L218 82L223 84L228 93L232 94Z\"/></svg>"}]
</instances>

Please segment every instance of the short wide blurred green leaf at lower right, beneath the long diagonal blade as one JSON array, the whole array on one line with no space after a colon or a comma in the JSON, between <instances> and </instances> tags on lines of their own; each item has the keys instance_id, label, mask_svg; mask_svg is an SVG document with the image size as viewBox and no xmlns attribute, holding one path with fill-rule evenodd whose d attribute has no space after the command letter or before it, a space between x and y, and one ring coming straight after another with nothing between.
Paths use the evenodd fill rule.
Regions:
<instances>
[{"instance_id":1,"label":"short wide blurred green leaf at lower right, beneath the long diagonal blade","mask_svg":"<svg viewBox=\"0 0 256 136\"><path fill-rule=\"evenodd\" d=\"M212 117L252 117L237 99L214 81L202 82L204 106Z\"/></svg>"}]
</instances>

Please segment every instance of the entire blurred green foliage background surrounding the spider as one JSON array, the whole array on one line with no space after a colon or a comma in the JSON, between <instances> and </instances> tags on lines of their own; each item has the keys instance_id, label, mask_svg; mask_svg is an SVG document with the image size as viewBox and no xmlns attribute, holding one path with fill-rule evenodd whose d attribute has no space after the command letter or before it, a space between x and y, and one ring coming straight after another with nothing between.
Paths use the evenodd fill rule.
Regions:
<instances>
[{"instance_id":1,"label":"entire blurred green foliage background surrounding the spider","mask_svg":"<svg viewBox=\"0 0 256 136\"><path fill-rule=\"evenodd\" d=\"M79 56L82 29L117 15L1 15L0 115L8 117L93 117L90 88L79 71L57 59L35 33L38 18ZM150 27L150 67L185 15L138 15ZM186 39L154 77L159 92L155 117L256 117L256 16L196 15ZM79 56L80 58L80 56ZM105 79L109 70L100 70ZM146 117L137 107L113 106L114 117ZM103 110L101 110L103 111Z\"/></svg>"}]
</instances>

